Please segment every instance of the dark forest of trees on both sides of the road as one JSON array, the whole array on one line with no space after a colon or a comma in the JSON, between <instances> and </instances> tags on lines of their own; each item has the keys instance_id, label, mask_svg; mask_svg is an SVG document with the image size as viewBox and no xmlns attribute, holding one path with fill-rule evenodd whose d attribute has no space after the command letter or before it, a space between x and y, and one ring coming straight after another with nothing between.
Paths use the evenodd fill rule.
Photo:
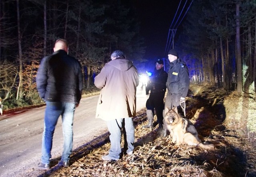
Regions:
<instances>
[{"instance_id":1,"label":"dark forest of trees on both sides of the road","mask_svg":"<svg viewBox=\"0 0 256 177\"><path fill-rule=\"evenodd\" d=\"M193 0L177 30L175 46L170 47L180 51L192 83L241 94L256 91L256 0ZM58 38L69 42L69 54L80 61L84 89L93 86L93 77L116 49L124 51L138 70L148 61L132 1L0 0L4 109L42 101L36 71Z\"/></svg>"}]
</instances>

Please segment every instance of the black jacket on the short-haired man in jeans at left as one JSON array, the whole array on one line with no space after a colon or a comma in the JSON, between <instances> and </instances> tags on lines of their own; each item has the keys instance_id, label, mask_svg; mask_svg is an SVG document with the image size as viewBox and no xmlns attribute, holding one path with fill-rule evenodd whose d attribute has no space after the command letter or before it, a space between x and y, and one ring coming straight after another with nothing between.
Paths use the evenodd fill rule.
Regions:
<instances>
[{"instance_id":1,"label":"black jacket on the short-haired man in jeans at left","mask_svg":"<svg viewBox=\"0 0 256 177\"><path fill-rule=\"evenodd\" d=\"M58 50L42 59L36 76L36 87L45 101L79 104L82 86L80 63L66 51Z\"/></svg>"}]
</instances>

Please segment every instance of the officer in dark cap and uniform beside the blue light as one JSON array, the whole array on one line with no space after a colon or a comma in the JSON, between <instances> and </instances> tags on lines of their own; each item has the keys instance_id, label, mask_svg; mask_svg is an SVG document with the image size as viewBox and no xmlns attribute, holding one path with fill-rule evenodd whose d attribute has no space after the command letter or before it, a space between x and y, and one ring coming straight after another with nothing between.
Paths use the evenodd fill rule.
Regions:
<instances>
[{"instance_id":1,"label":"officer in dark cap and uniform beside the blue light","mask_svg":"<svg viewBox=\"0 0 256 177\"><path fill-rule=\"evenodd\" d=\"M146 94L150 91L150 96L146 102L148 124L143 126L144 128L153 128L154 110L159 124L158 128L162 128L163 125L164 95L166 92L166 81L168 77L163 67L164 62L162 59L158 59L156 61L156 70L152 73L146 87Z\"/></svg>"}]
</instances>

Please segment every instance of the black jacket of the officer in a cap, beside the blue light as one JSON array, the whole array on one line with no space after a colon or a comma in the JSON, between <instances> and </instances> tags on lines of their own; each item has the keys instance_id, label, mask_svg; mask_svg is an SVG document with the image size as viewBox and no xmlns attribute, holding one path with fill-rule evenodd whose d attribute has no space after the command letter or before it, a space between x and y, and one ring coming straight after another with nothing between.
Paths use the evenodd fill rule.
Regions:
<instances>
[{"instance_id":1,"label":"black jacket of the officer in a cap, beside the blue light","mask_svg":"<svg viewBox=\"0 0 256 177\"><path fill-rule=\"evenodd\" d=\"M164 71L163 67L159 70L156 69L152 73L152 76L149 78L149 81L146 87L146 94L148 94L149 90L150 90L150 93L166 92L167 77L168 75Z\"/></svg>"}]
</instances>

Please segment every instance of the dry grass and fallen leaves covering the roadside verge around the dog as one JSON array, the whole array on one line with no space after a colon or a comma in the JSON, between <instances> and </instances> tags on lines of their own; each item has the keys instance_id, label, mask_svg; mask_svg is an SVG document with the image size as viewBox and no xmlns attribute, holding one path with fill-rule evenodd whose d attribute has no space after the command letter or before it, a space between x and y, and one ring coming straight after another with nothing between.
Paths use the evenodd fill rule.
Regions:
<instances>
[{"instance_id":1,"label":"dry grass and fallen leaves covering the roadside verge around the dog","mask_svg":"<svg viewBox=\"0 0 256 177\"><path fill-rule=\"evenodd\" d=\"M196 87L196 86L193 86ZM206 88L204 86L204 88ZM196 88L194 88L196 90ZM134 119L133 155L122 154L118 161L102 161L108 154L108 133L72 153L71 166L53 167L41 176L54 177L253 177L255 171L255 133L240 120L234 122L239 97L225 90L208 87L192 92L187 99L187 118L203 142L215 145L207 151L192 146L175 146L172 138L158 136L157 130L143 129L146 110ZM203 90L203 91L202 91ZM236 100L236 101L235 101ZM254 99L255 104L255 99ZM244 110L243 110L244 111ZM255 111L255 109L254 109ZM246 118L243 118L246 119ZM156 121L156 117L155 117ZM240 131L237 131L237 130ZM243 134L241 132L244 132ZM55 164L58 159L55 159Z\"/></svg>"}]
</instances>

